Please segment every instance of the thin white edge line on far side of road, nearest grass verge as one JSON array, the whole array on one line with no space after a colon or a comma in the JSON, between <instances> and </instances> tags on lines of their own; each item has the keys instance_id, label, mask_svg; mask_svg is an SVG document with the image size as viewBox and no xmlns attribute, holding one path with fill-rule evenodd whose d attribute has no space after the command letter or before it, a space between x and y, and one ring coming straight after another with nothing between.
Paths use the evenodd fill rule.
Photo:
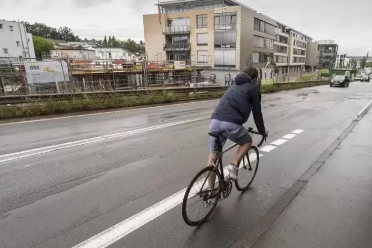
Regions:
<instances>
[{"instance_id":1,"label":"thin white edge line on far side of road, nearest grass verge","mask_svg":"<svg viewBox=\"0 0 372 248\"><path fill-rule=\"evenodd\" d=\"M109 111L109 112L102 112L102 113L76 115L76 116L64 116L64 117L47 118L47 119L40 119L40 120L23 121L23 122L3 123L3 124L0 124L0 126L2 126L2 125L23 124L23 123L34 123L34 122L45 122L45 121L61 120L61 119L68 119L68 118L75 118L75 117L84 117L84 116L115 114L115 113L121 113L121 112L125 112L125 111L134 111L134 110L135 111L139 111L139 110L145 110L145 109L164 108L164 107L168 107L168 106L186 105L186 104L202 103L202 102L212 102L212 101L219 101L219 99L213 99L213 100L207 100L207 101L198 101L198 102L177 103L177 104L169 104L169 105L154 106L154 107L145 107L145 108L134 108L134 109Z\"/></svg>"}]
</instances>

